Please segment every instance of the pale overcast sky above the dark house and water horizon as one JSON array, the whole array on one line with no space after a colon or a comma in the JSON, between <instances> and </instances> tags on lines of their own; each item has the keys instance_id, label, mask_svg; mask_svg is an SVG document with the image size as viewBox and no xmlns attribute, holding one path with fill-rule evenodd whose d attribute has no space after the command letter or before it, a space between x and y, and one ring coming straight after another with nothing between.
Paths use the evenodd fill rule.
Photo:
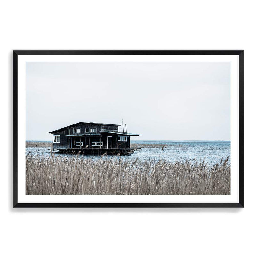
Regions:
<instances>
[{"instance_id":1,"label":"pale overcast sky above the dark house and water horizon","mask_svg":"<svg viewBox=\"0 0 256 256\"><path fill-rule=\"evenodd\" d=\"M26 140L122 119L133 140L230 140L230 62L26 63Z\"/></svg>"}]
</instances>

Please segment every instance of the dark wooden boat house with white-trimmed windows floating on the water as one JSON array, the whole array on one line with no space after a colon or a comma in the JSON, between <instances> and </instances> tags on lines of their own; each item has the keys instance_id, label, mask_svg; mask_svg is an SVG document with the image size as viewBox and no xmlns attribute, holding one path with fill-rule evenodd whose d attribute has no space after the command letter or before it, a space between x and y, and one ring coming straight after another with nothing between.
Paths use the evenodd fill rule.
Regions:
<instances>
[{"instance_id":1,"label":"dark wooden boat house with white-trimmed windows floating on the water","mask_svg":"<svg viewBox=\"0 0 256 256\"><path fill-rule=\"evenodd\" d=\"M119 132L119 126L79 122L48 133L52 134L52 150L61 153L134 153L138 148L131 148L131 136L140 134Z\"/></svg>"}]
</instances>

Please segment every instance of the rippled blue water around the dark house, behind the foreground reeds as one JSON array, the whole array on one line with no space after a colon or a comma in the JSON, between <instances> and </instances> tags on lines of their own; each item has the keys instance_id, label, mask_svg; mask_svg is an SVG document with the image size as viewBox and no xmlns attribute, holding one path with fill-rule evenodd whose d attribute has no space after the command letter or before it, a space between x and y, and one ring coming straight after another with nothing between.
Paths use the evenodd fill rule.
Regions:
<instances>
[{"instance_id":1,"label":"rippled blue water around the dark house, behind the foreground reeds","mask_svg":"<svg viewBox=\"0 0 256 256\"><path fill-rule=\"evenodd\" d=\"M164 146L162 150L162 146ZM146 147L145 147L146 146ZM156 147L158 146L158 147ZM105 156L107 158L111 157L121 157L123 159L141 159L141 160L152 160L152 159L166 159L169 161L185 161L187 158L202 161L205 159L210 165L220 162L221 158L227 158L230 156L230 142L184 142L184 141L131 141L131 148L142 147L136 150L134 154L124 155L124 156ZM49 150L45 147L39 148L26 148L26 152L43 153L43 156L49 156ZM68 154L55 155L71 157ZM101 156L97 155L81 155L79 157L92 158L98 160ZM230 163L230 162L229 162Z\"/></svg>"}]
</instances>

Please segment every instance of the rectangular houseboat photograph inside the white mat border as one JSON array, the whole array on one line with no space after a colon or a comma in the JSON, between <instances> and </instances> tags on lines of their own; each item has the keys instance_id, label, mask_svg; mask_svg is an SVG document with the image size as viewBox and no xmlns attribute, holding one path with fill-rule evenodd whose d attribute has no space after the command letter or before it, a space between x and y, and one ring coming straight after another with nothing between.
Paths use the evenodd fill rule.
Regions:
<instances>
[{"instance_id":1,"label":"rectangular houseboat photograph inside the white mat border","mask_svg":"<svg viewBox=\"0 0 256 256\"><path fill-rule=\"evenodd\" d=\"M229 62L26 63L26 194L225 195L230 161Z\"/></svg>"}]
</instances>

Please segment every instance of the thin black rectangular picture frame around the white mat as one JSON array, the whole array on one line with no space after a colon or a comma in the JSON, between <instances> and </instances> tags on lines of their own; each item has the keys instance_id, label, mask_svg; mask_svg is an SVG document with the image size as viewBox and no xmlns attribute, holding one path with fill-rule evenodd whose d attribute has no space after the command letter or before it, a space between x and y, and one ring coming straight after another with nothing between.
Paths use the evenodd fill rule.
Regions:
<instances>
[{"instance_id":1,"label":"thin black rectangular picture frame around the white mat","mask_svg":"<svg viewBox=\"0 0 256 256\"><path fill-rule=\"evenodd\" d=\"M18 203L18 56L19 55L238 55L239 56L239 203ZM243 50L13 50L13 207L244 207L244 51Z\"/></svg>"}]
</instances>

